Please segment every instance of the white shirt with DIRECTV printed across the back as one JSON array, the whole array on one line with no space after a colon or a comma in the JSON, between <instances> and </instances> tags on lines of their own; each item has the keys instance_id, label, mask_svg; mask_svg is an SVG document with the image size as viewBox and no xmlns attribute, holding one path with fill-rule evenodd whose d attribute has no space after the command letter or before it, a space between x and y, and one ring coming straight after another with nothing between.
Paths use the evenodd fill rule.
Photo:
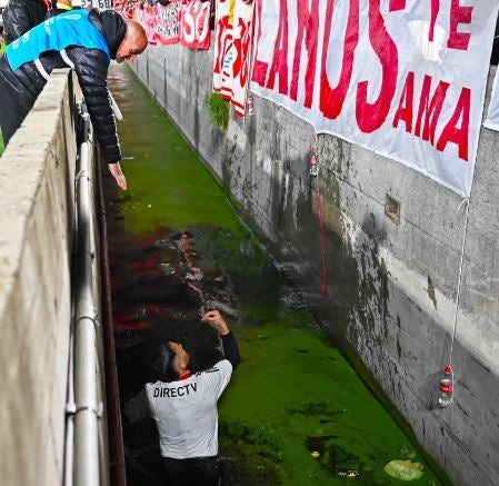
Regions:
<instances>
[{"instance_id":1,"label":"white shirt with DIRECTV printed across the back","mask_svg":"<svg viewBox=\"0 0 499 486\"><path fill-rule=\"evenodd\" d=\"M173 459L218 454L217 400L229 384L227 359L180 381L146 385L146 396L159 432L161 456Z\"/></svg>"}]
</instances>

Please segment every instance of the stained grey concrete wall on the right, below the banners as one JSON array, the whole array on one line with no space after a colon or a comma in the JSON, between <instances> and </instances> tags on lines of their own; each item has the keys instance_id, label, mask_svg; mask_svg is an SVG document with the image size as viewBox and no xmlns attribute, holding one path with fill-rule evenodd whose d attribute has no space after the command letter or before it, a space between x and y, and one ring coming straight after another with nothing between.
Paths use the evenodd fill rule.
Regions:
<instances>
[{"instance_id":1,"label":"stained grey concrete wall on the right, below the banners","mask_svg":"<svg viewBox=\"0 0 499 486\"><path fill-rule=\"evenodd\" d=\"M132 67L426 449L459 485L499 484L499 133L481 131L453 344L457 403L441 409L436 395L449 360L465 229L460 197L332 136L319 136L320 175L311 182L312 128L258 97L253 117L232 115L221 132L206 106L212 56L150 47ZM385 214L388 196L400 205L399 222Z\"/></svg>"}]
</instances>

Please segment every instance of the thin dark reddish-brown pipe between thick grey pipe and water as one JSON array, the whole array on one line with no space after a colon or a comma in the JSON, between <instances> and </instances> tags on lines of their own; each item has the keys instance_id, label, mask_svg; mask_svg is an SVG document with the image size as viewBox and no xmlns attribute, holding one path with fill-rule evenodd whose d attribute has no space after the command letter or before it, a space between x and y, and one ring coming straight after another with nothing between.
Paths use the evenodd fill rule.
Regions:
<instances>
[{"instance_id":1,"label":"thin dark reddish-brown pipe between thick grey pipe and water","mask_svg":"<svg viewBox=\"0 0 499 486\"><path fill-rule=\"evenodd\" d=\"M102 190L102 161L100 150L96 159L97 199L100 234L100 269L102 327L106 358L106 396L108 403L109 468L112 486L126 486L123 430L121 426L120 393L116 366L114 326L112 324L111 278L109 274L108 228Z\"/></svg>"}]
</instances>

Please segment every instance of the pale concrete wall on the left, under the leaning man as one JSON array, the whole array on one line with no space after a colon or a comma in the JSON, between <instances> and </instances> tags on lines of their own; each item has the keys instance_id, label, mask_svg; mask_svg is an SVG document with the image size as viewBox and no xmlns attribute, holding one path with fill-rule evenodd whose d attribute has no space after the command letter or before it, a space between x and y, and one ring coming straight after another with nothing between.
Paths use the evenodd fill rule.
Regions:
<instances>
[{"instance_id":1,"label":"pale concrete wall on the left, under the leaning man","mask_svg":"<svg viewBox=\"0 0 499 486\"><path fill-rule=\"evenodd\" d=\"M68 71L52 73L0 158L0 483L4 486L62 484L77 99L81 93L76 78ZM97 266L96 259L96 270ZM101 336L97 345L101 350ZM103 378L98 385L103 390ZM107 484L106 421L100 440L102 484Z\"/></svg>"}]
</instances>

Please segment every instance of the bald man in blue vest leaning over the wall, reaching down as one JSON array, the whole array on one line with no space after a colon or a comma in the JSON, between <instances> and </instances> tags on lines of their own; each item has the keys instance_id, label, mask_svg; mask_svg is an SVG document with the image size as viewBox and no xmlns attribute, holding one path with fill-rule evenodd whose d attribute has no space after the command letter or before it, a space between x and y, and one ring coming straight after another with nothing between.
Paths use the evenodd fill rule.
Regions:
<instances>
[{"instance_id":1,"label":"bald man in blue vest leaning over the wall, reaching down","mask_svg":"<svg viewBox=\"0 0 499 486\"><path fill-rule=\"evenodd\" d=\"M78 76L103 159L121 189L121 150L107 76L111 59L133 59L147 47L143 27L116 11L69 11L26 32L0 56L0 128L7 145L50 73L70 67Z\"/></svg>"}]
</instances>

